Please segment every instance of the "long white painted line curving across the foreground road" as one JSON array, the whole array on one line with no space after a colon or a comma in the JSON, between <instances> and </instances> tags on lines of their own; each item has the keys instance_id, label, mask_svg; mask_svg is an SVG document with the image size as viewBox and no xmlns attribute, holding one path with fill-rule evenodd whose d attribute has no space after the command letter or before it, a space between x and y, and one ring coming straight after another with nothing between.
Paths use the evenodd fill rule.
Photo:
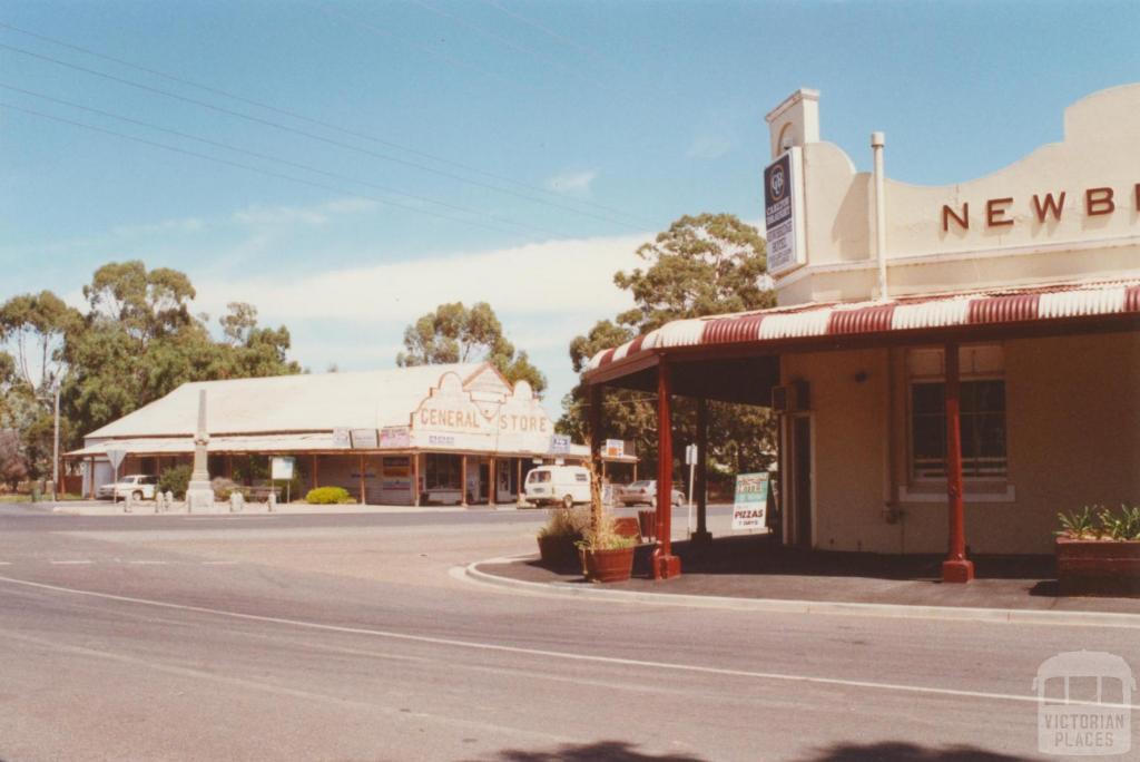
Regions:
<instances>
[{"instance_id":1,"label":"long white painted line curving across the foreground road","mask_svg":"<svg viewBox=\"0 0 1140 762\"><path fill-rule=\"evenodd\" d=\"M388 640L400 640L414 643L430 643L433 646L449 646L453 648L466 648L471 650L497 651L500 654L521 654L524 656L540 656L543 658L564 659L569 662L592 662L595 664L611 664L622 666L635 666L650 670L663 670L669 672L684 672L691 674L708 674L727 678L749 678L752 680L773 680L782 682L798 682L813 686L836 686L842 688L861 688L870 690L885 690L903 694L928 694L930 696L952 696L955 698L980 698L1002 702L1016 702L1019 704L1037 704L1036 696L1024 694L992 694L979 690L960 690L955 688L936 688L933 686L914 686L891 682L876 682L872 680L845 680L842 678L819 678L804 674L789 674L781 672L756 672L751 670L733 670L727 667L700 666L697 664L676 664L671 662L651 662L648 659L628 659L617 656L595 656L591 654L573 654L571 651L553 651L542 648L523 648L520 646L503 646L500 643L483 643L470 640L453 640L450 638L433 638L430 635L412 635L402 632L391 632L388 630L368 630L365 627L342 627L333 624L320 624L319 622L306 622L303 619L286 619L276 616L262 616L260 614L242 614L241 611L227 611L225 609L207 608L204 606L187 606L185 603L171 603L168 601L156 601L146 598L131 598L128 595L114 595L112 593L100 593L91 590L78 590L74 587L63 587L60 585L49 585L42 582L31 582L28 579L17 579L15 577L0 576L0 582L27 587L39 587L73 595L89 595L105 600L122 601L125 603L138 603L140 606L154 606L157 608L174 609L179 611L194 611L196 614L210 614L214 616L243 619L245 622L266 622L270 624L284 624L293 627L306 627L323 632L343 632L353 635L370 635ZM1140 711L1137 704L1113 704L1105 706L1116 706L1119 708Z\"/></svg>"}]
</instances>

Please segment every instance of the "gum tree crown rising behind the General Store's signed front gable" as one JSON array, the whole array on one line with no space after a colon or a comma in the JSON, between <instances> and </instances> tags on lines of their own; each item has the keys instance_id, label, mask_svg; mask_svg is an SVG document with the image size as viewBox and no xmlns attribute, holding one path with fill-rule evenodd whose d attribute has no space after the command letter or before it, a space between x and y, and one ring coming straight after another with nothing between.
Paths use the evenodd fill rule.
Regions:
<instances>
[{"instance_id":1,"label":"gum tree crown rising behind the General Store's signed front gable","mask_svg":"<svg viewBox=\"0 0 1140 762\"><path fill-rule=\"evenodd\" d=\"M440 305L404 331L404 347L396 356L400 367L487 360L515 383L526 380L536 394L546 389L546 376L515 351L503 335L503 324L487 302Z\"/></svg>"}]
</instances>

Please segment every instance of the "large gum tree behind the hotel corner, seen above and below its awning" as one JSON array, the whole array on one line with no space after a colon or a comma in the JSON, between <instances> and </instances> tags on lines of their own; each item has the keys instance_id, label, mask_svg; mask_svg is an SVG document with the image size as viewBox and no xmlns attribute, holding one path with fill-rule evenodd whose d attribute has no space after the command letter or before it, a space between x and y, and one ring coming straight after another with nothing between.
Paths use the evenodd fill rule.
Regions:
<instances>
[{"instance_id":1,"label":"large gum tree behind the hotel corner, seen above and below its awning","mask_svg":"<svg viewBox=\"0 0 1140 762\"><path fill-rule=\"evenodd\" d=\"M644 268L619 271L613 282L628 291L634 308L614 319L594 324L570 342L570 360L583 373L589 359L669 321L722 313L763 309L774 305L767 281L764 238L732 214L685 216L653 242L637 249ZM585 384L562 402L559 429L587 435ZM675 462L695 437L695 404L678 399L673 406ZM642 462L652 468L657 453L656 395L606 389L602 420L608 438L633 440ZM741 472L768 464L774 451L774 424L766 408L709 403L709 455L714 471Z\"/></svg>"}]
</instances>

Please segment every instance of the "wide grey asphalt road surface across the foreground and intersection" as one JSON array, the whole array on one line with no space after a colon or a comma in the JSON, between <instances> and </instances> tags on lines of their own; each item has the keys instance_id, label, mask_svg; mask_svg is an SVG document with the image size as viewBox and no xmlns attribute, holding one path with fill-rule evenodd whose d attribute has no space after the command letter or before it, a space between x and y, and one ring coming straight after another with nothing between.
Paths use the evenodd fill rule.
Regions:
<instances>
[{"instance_id":1,"label":"wide grey asphalt road surface across the foreground and intersection","mask_svg":"<svg viewBox=\"0 0 1140 762\"><path fill-rule=\"evenodd\" d=\"M0 757L1049 759L1040 663L1140 666L1135 630L695 610L451 574L531 552L542 518L0 508Z\"/></svg>"}]
</instances>

